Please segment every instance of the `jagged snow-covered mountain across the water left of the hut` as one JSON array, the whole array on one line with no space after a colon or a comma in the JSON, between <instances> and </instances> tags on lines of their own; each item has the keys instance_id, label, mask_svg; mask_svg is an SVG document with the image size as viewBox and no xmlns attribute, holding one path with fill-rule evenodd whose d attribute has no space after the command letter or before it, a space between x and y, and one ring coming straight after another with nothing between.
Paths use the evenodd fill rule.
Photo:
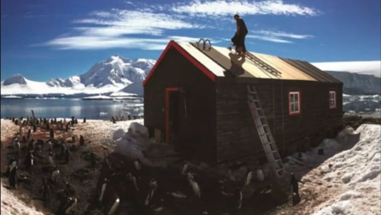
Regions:
<instances>
[{"instance_id":1,"label":"jagged snow-covered mountain across the water left of the hut","mask_svg":"<svg viewBox=\"0 0 381 215\"><path fill-rule=\"evenodd\" d=\"M68 79L35 82L16 74L1 82L1 95L113 93L132 83L142 83L154 64L151 59L130 60L113 55L96 63L86 73Z\"/></svg>"}]
</instances>

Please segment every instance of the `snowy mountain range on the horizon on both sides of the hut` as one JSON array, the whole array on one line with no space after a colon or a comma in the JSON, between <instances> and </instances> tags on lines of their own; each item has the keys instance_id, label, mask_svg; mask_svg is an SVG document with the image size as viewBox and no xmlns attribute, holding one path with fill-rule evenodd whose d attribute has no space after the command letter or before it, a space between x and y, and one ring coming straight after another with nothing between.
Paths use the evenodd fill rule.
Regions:
<instances>
[{"instance_id":1,"label":"snowy mountain range on the horizon on both sides of the hut","mask_svg":"<svg viewBox=\"0 0 381 215\"><path fill-rule=\"evenodd\" d=\"M1 96L142 96L142 82L155 62L151 59L130 60L113 55L96 63L84 74L67 79L50 79L47 82L36 82L15 74L1 81ZM381 61L312 64L343 82L345 94L381 93Z\"/></svg>"}]
</instances>

